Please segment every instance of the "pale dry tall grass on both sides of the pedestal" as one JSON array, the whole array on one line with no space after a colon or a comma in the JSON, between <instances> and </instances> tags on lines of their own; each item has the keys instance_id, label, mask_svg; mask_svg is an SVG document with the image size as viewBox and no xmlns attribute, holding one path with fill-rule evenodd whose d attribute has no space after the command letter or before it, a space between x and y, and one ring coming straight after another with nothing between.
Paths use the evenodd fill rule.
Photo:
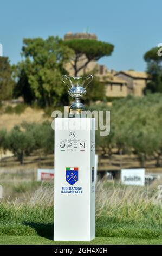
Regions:
<instances>
[{"instance_id":1,"label":"pale dry tall grass on both sides of the pedestal","mask_svg":"<svg viewBox=\"0 0 162 256\"><path fill-rule=\"evenodd\" d=\"M161 182L162 184L162 182ZM162 196L161 196L162 197ZM96 218L108 216L126 221L146 220L162 223L162 198L155 188L123 186L98 181L96 184ZM41 186L33 193L24 193L12 202L16 208L25 204L29 208L47 209L54 205L53 184Z\"/></svg>"}]
</instances>

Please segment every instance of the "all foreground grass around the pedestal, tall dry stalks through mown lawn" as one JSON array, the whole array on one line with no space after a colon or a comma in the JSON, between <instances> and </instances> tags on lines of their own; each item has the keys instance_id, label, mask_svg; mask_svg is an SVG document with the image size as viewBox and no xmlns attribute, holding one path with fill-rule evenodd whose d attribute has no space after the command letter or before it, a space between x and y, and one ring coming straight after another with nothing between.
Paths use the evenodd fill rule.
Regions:
<instances>
[{"instance_id":1,"label":"all foreground grass around the pedestal, tall dry stalks through mown lawn","mask_svg":"<svg viewBox=\"0 0 162 256\"><path fill-rule=\"evenodd\" d=\"M27 188L33 191L35 186L34 183L29 186L19 184L13 191L25 193ZM113 188L104 184L97 185L96 189L96 239L90 243L161 244L161 203L155 200L152 191L148 193L145 188L137 187ZM22 201L1 202L0 243L66 243L51 240L53 193L53 184L45 183L34 194L27 193Z\"/></svg>"}]
</instances>

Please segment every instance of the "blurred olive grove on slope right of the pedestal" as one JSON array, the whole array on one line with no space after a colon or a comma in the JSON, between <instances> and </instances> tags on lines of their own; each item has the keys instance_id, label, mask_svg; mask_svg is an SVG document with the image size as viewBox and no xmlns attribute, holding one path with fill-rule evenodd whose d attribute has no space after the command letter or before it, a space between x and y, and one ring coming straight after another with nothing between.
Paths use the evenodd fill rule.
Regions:
<instances>
[{"instance_id":1,"label":"blurred olive grove on slope right of the pedestal","mask_svg":"<svg viewBox=\"0 0 162 256\"><path fill-rule=\"evenodd\" d=\"M156 160L156 167L162 159L162 97L149 94L145 97L128 96L116 100L112 107L105 104L91 106L90 109L111 110L111 132L100 136L96 131L96 147L100 154L111 160L113 149L118 154L137 155L141 167L146 160Z\"/></svg>"}]
</instances>

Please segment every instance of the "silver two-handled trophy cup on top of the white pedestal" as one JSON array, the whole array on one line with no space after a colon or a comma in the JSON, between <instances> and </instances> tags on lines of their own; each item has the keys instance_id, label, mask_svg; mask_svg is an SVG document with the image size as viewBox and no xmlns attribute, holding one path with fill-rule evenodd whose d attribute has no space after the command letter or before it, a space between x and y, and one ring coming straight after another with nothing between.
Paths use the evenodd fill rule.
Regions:
<instances>
[{"instance_id":1,"label":"silver two-handled trophy cup on top of the white pedestal","mask_svg":"<svg viewBox=\"0 0 162 256\"><path fill-rule=\"evenodd\" d=\"M80 98L86 95L86 87L92 79L92 75L74 77L68 77L66 75L62 76L62 81L68 86L69 95L75 99L75 102L70 106L69 117L81 117L81 113L85 110L85 106L80 101Z\"/></svg>"}]
</instances>

